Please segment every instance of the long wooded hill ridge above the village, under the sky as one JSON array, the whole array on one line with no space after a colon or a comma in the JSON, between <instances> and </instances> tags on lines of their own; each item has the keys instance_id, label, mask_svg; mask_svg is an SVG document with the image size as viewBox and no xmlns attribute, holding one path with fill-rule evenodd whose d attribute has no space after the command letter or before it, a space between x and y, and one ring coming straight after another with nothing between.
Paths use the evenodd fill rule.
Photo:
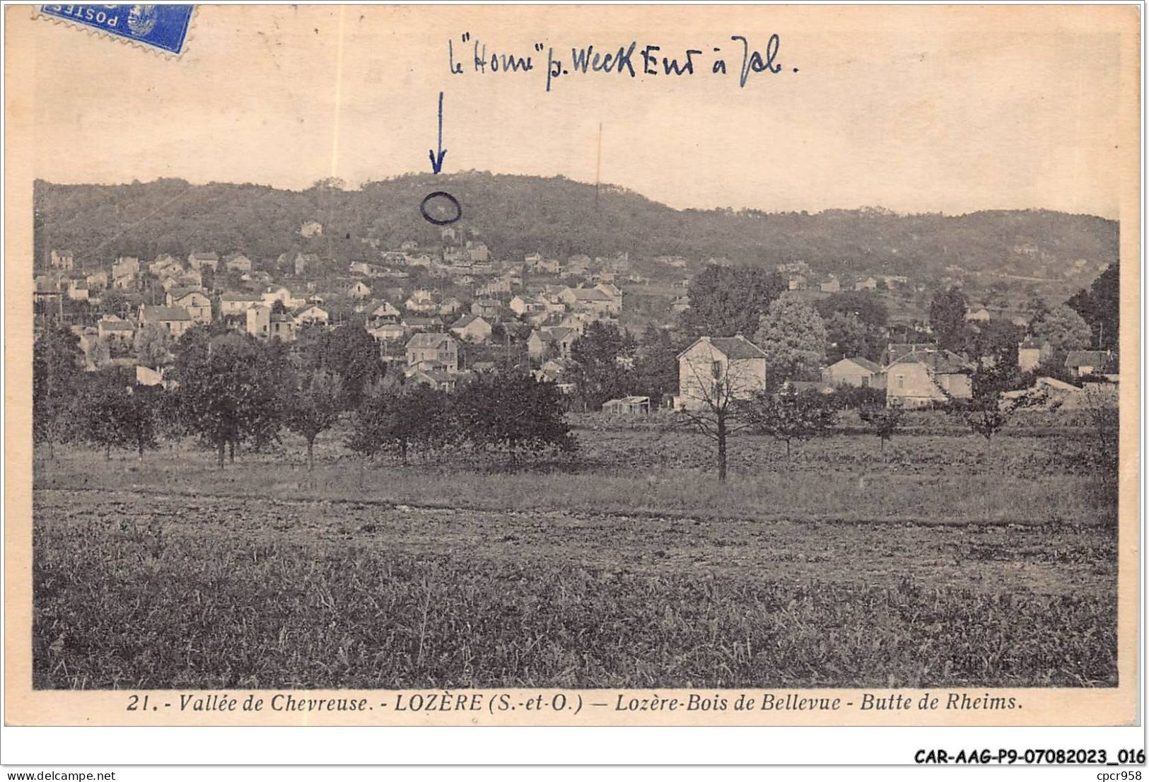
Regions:
<instances>
[{"instance_id":1,"label":"long wooded hill ridge above the village, under the sky","mask_svg":"<svg viewBox=\"0 0 1149 782\"><path fill-rule=\"evenodd\" d=\"M407 175L357 191L317 185L303 192L259 185L190 185L180 179L130 185L36 187L37 260L48 249L79 264L117 254L240 250L257 262L292 248L332 262L370 260L362 238L381 248L404 239L439 240L419 215L427 193L446 189L462 204L461 226L478 230L494 257L542 251L591 256L684 255L692 260L773 265L805 261L816 272L905 274L919 280L988 272L1087 285L1116 263L1118 224L1086 215L1025 210L963 216L897 215L884 209L818 214L676 210L623 188L562 177L485 172ZM300 225L323 224L304 239ZM1073 268L1074 262L1078 263ZM1066 277L1069 274L1069 277Z\"/></svg>"}]
</instances>

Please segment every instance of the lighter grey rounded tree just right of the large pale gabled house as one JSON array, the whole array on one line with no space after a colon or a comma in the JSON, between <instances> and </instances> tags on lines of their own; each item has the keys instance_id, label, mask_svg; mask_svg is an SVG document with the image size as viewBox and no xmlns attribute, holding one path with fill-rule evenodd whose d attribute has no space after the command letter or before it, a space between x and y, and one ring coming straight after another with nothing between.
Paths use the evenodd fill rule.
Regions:
<instances>
[{"instance_id":1,"label":"lighter grey rounded tree just right of the large pale gabled house","mask_svg":"<svg viewBox=\"0 0 1149 782\"><path fill-rule=\"evenodd\" d=\"M754 341L766 354L766 377L810 380L826 356L826 324L807 302L778 299L762 316Z\"/></svg>"}]
</instances>

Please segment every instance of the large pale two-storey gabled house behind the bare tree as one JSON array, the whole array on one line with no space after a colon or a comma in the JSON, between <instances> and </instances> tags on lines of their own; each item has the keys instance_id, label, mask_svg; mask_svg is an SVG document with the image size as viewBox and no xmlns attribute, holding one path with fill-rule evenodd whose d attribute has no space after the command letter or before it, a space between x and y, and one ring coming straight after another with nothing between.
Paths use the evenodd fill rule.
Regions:
<instances>
[{"instance_id":1,"label":"large pale two-storey gabled house behind the bare tree","mask_svg":"<svg viewBox=\"0 0 1149 782\"><path fill-rule=\"evenodd\" d=\"M678 354L676 410L702 410L766 388L766 354L741 334L700 336Z\"/></svg>"}]
</instances>

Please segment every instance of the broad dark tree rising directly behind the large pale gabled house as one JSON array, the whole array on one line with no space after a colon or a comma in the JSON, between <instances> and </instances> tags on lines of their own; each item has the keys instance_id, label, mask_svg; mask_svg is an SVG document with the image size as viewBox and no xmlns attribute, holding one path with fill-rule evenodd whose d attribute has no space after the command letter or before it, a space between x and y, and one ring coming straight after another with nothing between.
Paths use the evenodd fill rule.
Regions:
<instances>
[{"instance_id":1,"label":"broad dark tree rising directly behind the large pale gabled house","mask_svg":"<svg viewBox=\"0 0 1149 782\"><path fill-rule=\"evenodd\" d=\"M749 336L770 302L786 289L781 274L761 266L708 266L691 280L683 326L694 336Z\"/></svg>"}]
</instances>

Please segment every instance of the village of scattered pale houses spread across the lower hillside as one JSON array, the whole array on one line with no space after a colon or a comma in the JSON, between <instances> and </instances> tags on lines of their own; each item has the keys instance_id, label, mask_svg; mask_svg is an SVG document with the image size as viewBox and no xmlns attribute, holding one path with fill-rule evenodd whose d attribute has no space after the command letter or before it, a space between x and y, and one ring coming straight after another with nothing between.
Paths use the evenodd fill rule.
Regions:
<instances>
[{"instance_id":1,"label":"village of scattered pale houses spread across the lower hillside","mask_svg":"<svg viewBox=\"0 0 1149 782\"><path fill-rule=\"evenodd\" d=\"M309 220L299 233L318 238L323 226ZM203 248L186 258L160 254L141 261L133 256L77 260L65 249L53 249L36 276L37 327L68 326L90 371L125 367L134 371L141 385L167 387L173 382L168 377L175 361L172 347L196 326L215 334L241 333L291 344L307 334L354 325L375 340L379 362L409 381L449 392L477 372L522 366L537 380L554 382L572 405L579 400L581 409L620 415L702 405L705 394L699 389L699 378L720 373L739 375L734 396L748 397L781 380L796 390L878 389L887 404L905 409L971 398L972 375L1002 359L1016 364L1019 373L1033 375L1031 386L1046 397L1051 394L1058 404L1087 385L1106 393L1116 389L1116 354L1095 343L1096 335L1081 323L1039 325L1035 318L1046 317L1044 312L1018 316L1015 310L1010 317L970 302L963 303L961 316L966 333L1001 332L997 341L1009 342L1004 350L998 344L971 355L961 349L965 343L942 344L927 318L866 324L864 351L850 351L848 340L831 327L828 349L816 365L808 363L802 371L791 367L779 379L768 378L777 374L777 362L769 361L768 346L755 344L754 334L696 333L674 346L677 366L661 367L663 375L677 377L677 388L649 384L616 388L617 396L593 398L588 405L578 387L574 344L591 324L638 332L624 317L631 315L635 296L624 291L649 284L639 273L639 264L626 253L594 258L532 253L522 260L498 260L473 232L445 226L440 235L440 243L426 247L414 240L396 248L364 241L373 260L352 262L346 274L336 278L323 272L316 254L300 250L253 260L240 251L221 255ZM680 256L643 262L671 276L700 266L699 261ZM701 261L703 270L730 265L726 258ZM816 303L838 297L849 303L859 301L857 296L867 301L865 296L879 292L924 289L904 276L828 273L818 278L805 262L779 264L774 272L782 300ZM660 300L666 327L689 318L689 286L695 278L683 277L678 292L672 289ZM833 326L841 316L833 313L826 324ZM845 320L847 326L857 325L854 313L846 312ZM642 333L633 334L635 341L642 338ZM633 358L616 358L619 366L633 364ZM702 364L705 371L700 370Z\"/></svg>"}]
</instances>

